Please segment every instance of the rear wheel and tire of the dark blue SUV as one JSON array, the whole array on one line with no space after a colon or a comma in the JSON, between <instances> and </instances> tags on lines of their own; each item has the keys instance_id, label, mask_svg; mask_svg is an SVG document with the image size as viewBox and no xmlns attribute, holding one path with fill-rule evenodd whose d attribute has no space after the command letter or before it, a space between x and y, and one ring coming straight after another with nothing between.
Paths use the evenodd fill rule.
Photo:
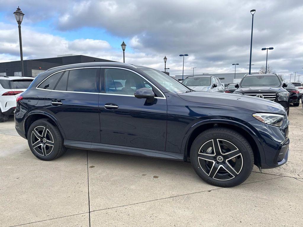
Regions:
<instances>
[{"instance_id":1,"label":"rear wheel and tire of the dark blue SUV","mask_svg":"<svg viewBox=\"0 0 303 227\"><path fill-rule=\"evenodd\" d=\"M58 127L48 119L32 123L28 129L27 141L33 155L44 161L54 160L67 150Z\"/></svg>"}]
</instances>

